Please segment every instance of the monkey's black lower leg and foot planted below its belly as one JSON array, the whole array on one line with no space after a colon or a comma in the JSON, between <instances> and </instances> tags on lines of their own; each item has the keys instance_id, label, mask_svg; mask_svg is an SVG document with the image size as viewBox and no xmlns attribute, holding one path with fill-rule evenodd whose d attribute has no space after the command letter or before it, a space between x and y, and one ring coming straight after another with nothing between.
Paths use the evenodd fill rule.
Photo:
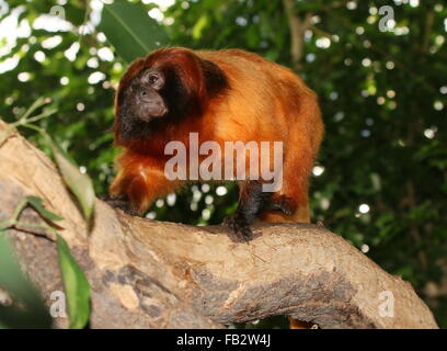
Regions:
<instances>
[{"instance_id":1,"label":"monkey's black lower leg and foot planted below its belly","mask_svg":"<svg viewBox=\"0 0 447 351\"><path fill-rule=\"evenodd\" d=\"M262 182L249 180L240 184L240 197L236 212L225 218L224 224L233 233L234 241L249 241L253 233L250 224L264 211L272 193L262 191Z\"/></svg>"}]
</instances>

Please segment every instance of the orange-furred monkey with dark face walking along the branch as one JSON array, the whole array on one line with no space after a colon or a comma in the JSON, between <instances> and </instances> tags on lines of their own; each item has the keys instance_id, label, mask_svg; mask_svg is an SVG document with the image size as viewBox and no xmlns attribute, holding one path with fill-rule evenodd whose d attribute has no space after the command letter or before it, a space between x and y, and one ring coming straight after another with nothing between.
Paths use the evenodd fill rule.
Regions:
<instances>
[{"instance_id":1,"label":"orange-furred monkey with dark face walking along the branch","mask_svg":"<svg viewBox=\"0 0 447 351\"><path fill-rule=\"evenodd\" d=\"M251 240L257 218L310 222L309 178L324 125L317 94L293 70L241 49L161 48L130 64L114 105L114 144L122 151L110 194L128 213L142 215L156 199L191 181L167 178L172 155L165 148L179 140L191 151L188 137L196 133L199 144L222 148L227 141L282 143L280 189L264 191L263 177L236 179L239 203L224 220L234 241ZM233 154L218 157L224 165L233 161ZM266 163L274 166L272 157Z\"/></svg>"}]
</instances>

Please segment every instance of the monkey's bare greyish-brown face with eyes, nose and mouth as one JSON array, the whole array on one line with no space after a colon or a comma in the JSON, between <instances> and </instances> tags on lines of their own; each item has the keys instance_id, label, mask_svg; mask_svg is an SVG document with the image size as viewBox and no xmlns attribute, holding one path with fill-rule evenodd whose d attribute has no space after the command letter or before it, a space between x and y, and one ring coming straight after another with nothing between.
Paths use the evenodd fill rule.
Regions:
<instances>
[{"instance_id":1,"label":"monkey's bare greyish-brown face with eyes, nose and mouth","mask_svg":"<svg viewBox=\"0 0 447 351\"><path fill-rule=\"evenodd\" d=\"M164 84L163 72L154 68L148 68L135 77L122 101L122 117L150 122L164 116L168 106L160 95Z\"/></svg>"}]
</instances>

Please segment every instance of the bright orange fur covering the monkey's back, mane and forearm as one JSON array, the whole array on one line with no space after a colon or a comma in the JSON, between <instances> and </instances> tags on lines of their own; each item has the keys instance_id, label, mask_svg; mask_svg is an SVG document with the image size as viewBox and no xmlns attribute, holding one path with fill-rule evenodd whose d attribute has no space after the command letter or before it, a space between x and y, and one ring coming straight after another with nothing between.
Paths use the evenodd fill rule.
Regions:
<instances>
[{"instance_id":1,"label":"bright orange fur covering the monkey's back, mane and forearm","mask_svg":"<svg viewBox=\"0 0 447 351\"><path fill-rule=\"evenodd\" d=\"M229 90L208 97L199 59L216 64ZM266 222L309 222L308 178L323 135L323 123L316 93L291 70L240 49L190 50L165 48L134 61L119 82L117 95L142 69L181 67L182 81L202 101L203 109L145 140L119 140L124 147L117 160L118 174L111 194L127 194L138 212L145 212L159 196L173 192L181 181L164 178L164 146L171 140L188 144L190 133L199 141L283 141L283 188L272 199L289 199L291 215L267 212ZM115 103L118 114L118 104ZM118 131L115 124L115 133ZM225 161L225 160L224 160Z\"/></svg>"}]
</instances>

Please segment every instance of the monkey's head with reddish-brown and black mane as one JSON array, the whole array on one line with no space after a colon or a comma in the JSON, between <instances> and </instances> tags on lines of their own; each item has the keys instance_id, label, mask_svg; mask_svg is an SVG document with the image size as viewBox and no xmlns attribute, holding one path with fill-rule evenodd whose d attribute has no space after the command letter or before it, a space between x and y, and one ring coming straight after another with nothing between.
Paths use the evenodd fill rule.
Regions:
<instances>
[{"instance_id":1,"label":"monkey's head with reddish-brown and black mane","mask_svg":"<svg viewBox=\"0 0 447 351\"><path fill-rule=\"evenodd\" d=\"M199 116L227 86L220 68L193 50L172 47L136 59L115 98L115 139L149 138L169 124Z\"/></svg>"}]
</instances>

